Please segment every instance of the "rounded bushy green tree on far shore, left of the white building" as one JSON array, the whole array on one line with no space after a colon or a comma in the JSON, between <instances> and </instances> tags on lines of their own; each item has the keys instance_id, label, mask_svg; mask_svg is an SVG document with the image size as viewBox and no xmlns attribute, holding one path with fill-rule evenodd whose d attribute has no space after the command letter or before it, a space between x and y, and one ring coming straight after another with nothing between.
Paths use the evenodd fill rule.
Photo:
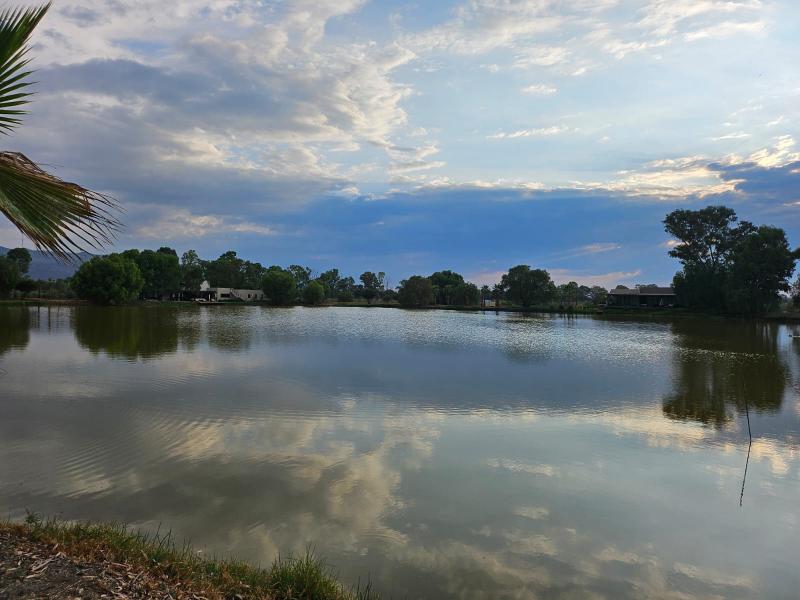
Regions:
<instances>
[{"instance_id":1,"label":"rounded bushy green tree on far shore, left of the white building","mask_svg":"<svg viewBox=\"0 0 800 600\"><path fill-rule=\"evenodd\" d=\"M125 304L135 300L144 285L136 263L120 254L95 256L72 276L78 297L98 304Z\"/></svg>"}]
</instances>

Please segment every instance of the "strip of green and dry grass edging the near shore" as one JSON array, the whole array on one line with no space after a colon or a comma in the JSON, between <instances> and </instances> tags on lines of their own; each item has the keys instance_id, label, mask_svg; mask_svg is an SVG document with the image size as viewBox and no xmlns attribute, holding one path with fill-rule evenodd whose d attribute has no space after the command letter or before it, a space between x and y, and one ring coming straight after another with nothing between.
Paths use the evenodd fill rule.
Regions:
<instances>
[{"instance_id":1,"label":"strip of green and dry grass edging the near shore","mask_svg":"<svg viewBox=\"0 0 800 600\"><path fill-rule=\"evenodd\" d=\"M124 567L136 574L134 579L140 585L149 582L156 586L154 589L169 590L166 593L175 598L379 598L369 583L355 589L344 586L310 552L258 568L230 558L201 558L188 544L176 544L169 534L146 534L117 523L68 523L29 517L24 523L0 521L0 533L12 543L37 545L39 553L45 548L53 557L79 560L81 569L86 564L99 565L104 571ZM22 576L22 581L27 577Z\"/></svg>"}]
</instances>

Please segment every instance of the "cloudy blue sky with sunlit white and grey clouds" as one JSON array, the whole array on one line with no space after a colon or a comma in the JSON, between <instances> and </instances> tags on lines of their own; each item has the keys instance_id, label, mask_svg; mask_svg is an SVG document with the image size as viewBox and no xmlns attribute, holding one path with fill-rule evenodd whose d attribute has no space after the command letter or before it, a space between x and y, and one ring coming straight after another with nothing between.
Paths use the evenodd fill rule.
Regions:
<instances>
[{"instance_id":1,"label":"cloudy blue sky with sunlit white and grey clouds","mask_svg":"<svg viewBox=\"0 0 800 600\"><path fill-rule=\"evenodd\" d=\"M795 0L56 0L31 56L5 147L115 249L666 284L709 204L800 245Z\"/></svg>"}]
</instances>

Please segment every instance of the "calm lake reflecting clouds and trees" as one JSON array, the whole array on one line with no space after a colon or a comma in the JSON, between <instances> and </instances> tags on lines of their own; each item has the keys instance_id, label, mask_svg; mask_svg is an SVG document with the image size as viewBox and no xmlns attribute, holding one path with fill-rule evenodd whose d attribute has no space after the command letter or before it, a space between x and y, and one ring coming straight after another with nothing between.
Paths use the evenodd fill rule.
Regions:
<instances>
[{"instance_id":1,"label":"calm lake reflecting clouds and trees","mask_svg":"<svg viewBox=\"0 0 800 600\"><path fill-rule=\"evenodd\" d=\"M312 547L394 598L794 599L793 331L0 306L0 514Z\"/></svg>"}]
</instances>

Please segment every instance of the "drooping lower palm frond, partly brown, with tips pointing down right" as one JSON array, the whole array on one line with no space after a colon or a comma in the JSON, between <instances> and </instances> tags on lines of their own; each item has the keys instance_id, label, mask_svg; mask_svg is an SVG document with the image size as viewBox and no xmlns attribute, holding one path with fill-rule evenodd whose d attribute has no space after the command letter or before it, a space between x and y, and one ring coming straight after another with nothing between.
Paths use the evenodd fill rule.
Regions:
<instances>
[{"instance_id":1,"label":"drooping lower palm frond, partly brown, with tips pointing down right","mask_svg":"<svg viewBox=\"0 0 800 600\"><path fill-rule=\"evenodd\" d=\"M62 181L18 152L0 152L0 213L36 244L69 260L113 241L113 198Z\"/></svg>"}]
</instances>

